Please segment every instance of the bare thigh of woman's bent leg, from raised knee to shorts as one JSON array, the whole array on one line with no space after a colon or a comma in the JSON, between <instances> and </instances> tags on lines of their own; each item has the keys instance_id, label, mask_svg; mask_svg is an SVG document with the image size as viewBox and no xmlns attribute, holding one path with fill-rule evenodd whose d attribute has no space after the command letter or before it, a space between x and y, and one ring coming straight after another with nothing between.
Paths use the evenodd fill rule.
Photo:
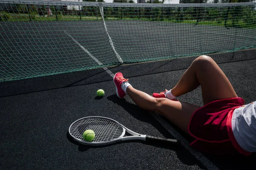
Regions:
<instances>
[{"instance_id":1,"label":"bare thigh of woman's bent leg, from raised knee to shorts","mask_svg":"<svg viewBox=\"0 0 256 170\"><path fill-rule=\"evenodd\" d=\"M199 60L197 65L196 76L202 88L204 104L219 99L237 97L227 76L212 58L205 56Z\"/></svg>"}]
</instances>

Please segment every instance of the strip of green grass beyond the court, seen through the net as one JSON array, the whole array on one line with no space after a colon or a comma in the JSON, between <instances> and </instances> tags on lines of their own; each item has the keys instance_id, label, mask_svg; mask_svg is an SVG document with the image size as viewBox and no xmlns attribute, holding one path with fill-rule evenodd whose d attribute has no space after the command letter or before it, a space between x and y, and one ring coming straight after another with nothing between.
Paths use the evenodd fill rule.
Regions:
<instances>
[{"instance_id":1,"label":"strip of green grass beyond the court, seen through the net","mask_svg":"<svg viewBox=\"0 0 256 170\"><path fill-rule=\"evenodd\" d=\"M29 14L14 14L7 12L0 12L0 21L2 22L15 22L15 21L49 21L49 20L102 20L101 16L85 16L85 15L52 15L52 16L39 16L37 13L31 12ZM171 22L171 23L182 23L182 24L196 24L196 20L182 20L179 21L175 17L166 18L164 16L155 15L153 16L134 16L134 17L122 17L122 16L113 16L113 15L105 15L105 20L145 20L145 21L161 21L161 22ZM198 25L209 25L209 26L225 26L224 20L200 20ZM256 22L254 20L253 23L247 23L243 20L231 20L230 18L227 20L226 26L228 27L238 27L238 28L250 28L256 29Z\"/></svg>"}]
</instances>

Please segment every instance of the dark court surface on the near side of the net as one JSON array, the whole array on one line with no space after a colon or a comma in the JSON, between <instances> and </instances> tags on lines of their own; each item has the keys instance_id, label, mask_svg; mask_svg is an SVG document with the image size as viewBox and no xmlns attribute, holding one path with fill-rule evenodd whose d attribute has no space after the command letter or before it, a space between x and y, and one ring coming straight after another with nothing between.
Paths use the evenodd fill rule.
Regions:
<instances>
[{"instance_id":1,"label":"dark court surface on the near side of the net","mask_svg":"<svg viewBox=\"0 0 256 170\"><path fill-rule=\"evenodd\" d=\"M256 98L255 49L211 56L248 104ZM116 96L112 74L122 72L134 88L148 94L170 89L195 57L154 61L0 83L0 169L61 170L227 170L249 169L255 154L211 156L189 147L193 138L165 118ZM107 70L107 71L106 71ZM98 89L105 96L96 96ZM201 89L180 101L203 106ZM176 138L180 147L127 141L87 146L68 129L87 116L112 118L140 134Z\"/></svg>"}]
</instances>

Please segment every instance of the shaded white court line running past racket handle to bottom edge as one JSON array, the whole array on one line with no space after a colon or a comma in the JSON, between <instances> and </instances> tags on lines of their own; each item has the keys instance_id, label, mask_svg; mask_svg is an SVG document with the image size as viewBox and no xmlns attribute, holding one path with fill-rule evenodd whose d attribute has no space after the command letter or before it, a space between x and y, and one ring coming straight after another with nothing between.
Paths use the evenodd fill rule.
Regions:
<instances>
[{"instance_id":1,"label":"shaded white court line running past racket handle to bottom edge","mask_svg":"<svg viewBox=\"0 0 256 170\"><path fill-rule=\"evenodd\" d=\"M193 150L192 147L189 146L189 141L187 141L180 133L177 132L171 125L169 125L163 118L159 115L151 113L151 115L161 124L163 125L166 130L168 130L173 137L177 140L180 140L180 143L185 147L198 161L201 162L208 170L218 170L219 168L216 167L207 157L205 157L202 153Z\"/></svg>"}]
</instances>

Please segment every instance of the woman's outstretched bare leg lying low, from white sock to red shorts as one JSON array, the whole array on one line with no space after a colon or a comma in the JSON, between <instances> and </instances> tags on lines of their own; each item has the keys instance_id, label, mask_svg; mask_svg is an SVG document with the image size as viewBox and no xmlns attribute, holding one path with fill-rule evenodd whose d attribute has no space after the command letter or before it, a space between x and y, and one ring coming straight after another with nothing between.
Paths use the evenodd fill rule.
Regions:
<instances>
[{"instance_id":1,"label":"woman's outstretched bare leg lying low, from white sock to red shorts","mask_svg":"<svg viewBox=\"0 0 256 170\"><path fill-rule=\"evenodd\" d=\"M126 93L139 107L163 115L186 133L191 115L199 108L194 104L172 101L168 98L153 98L132 86L127 87Z\"/></svg>"}]
</instances>

